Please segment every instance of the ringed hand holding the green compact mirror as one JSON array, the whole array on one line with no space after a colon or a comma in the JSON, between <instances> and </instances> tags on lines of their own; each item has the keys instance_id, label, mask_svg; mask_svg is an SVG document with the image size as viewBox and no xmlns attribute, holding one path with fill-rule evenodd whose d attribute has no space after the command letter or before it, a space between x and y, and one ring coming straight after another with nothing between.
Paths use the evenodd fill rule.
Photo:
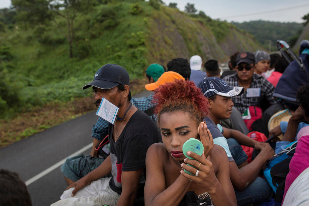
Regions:
<instances>
[{"instance_id":1,"label":"ringed hand holding the green compact mirror","mask_svg":"<svg viewBox=\"0 0 309 206\"><path fill-rule=\"evenodd\" d=\"M181 166L183 169L188 170L195 175L187 174L183 170L181 170L180 173L182 174L182 176L196 182L207 191L214 190L214 187L216 187L218 183L218 179L214 174L213 164L205 158L204 153L200 156L193 152L187 152L187 155L194 159L186 158L184 159L184 162L189 165L195 166L196 168L188 166L184 163L181 164Z\"/></svg>"}]
</instances>

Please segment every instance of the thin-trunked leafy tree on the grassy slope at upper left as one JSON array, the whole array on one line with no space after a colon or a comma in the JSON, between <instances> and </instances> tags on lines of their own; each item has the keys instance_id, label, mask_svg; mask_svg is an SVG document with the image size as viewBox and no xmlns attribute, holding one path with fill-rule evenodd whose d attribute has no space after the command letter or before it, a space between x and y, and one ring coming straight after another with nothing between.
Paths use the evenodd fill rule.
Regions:
<instances>
[{"instance_id":1,"label":"thin-trunked leafy tree on the grassy slope at upper left","mask_svg":"<svg viewBox=\"0 0 309 206\"><path fill-rule=\"evenodd\" d=\"M17 19L32 25L52 21L68 39L70 58L73 57L74 19L82 9L81 0L12 0L17 11ZM66 20L67 29L63 29L56 17Z\"/></svg>"}]
</instances>

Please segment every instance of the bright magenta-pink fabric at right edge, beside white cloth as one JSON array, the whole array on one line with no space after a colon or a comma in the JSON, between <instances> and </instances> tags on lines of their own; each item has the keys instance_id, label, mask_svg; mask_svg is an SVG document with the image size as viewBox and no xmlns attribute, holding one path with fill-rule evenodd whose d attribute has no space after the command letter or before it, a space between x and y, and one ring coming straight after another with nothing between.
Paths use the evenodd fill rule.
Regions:
<instances>
[{"instance_id":1,"label":"bright magenta-pink fabric at right edge, beside white cloth","mask_svg":"<svg viewBox=\"0 0 309 206\"><path fill-rule=\"evenodd\" d=\"M290 188L291 184L298 177L303 170L309 167L309 135L303 136L299 139L295 153L290 162L290 172L286 175L286 184L284 187L284 197L286 196L286 192ZM282 201L283 202L283 201Z\"/></svg>"}]
</instances>

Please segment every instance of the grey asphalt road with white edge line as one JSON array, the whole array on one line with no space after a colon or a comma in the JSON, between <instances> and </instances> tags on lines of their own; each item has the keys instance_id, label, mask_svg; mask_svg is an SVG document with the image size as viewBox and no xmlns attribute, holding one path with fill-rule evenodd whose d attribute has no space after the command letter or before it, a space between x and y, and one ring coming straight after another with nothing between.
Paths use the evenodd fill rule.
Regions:
<instances>
[{"instance_id":1,"label":"grey asphalt road with white edge line","mask_svg":"<svg viewBox=\"0 0 309 206\"><path fill-rule=\"evenodd\" d=\"M144 91L133 97L140 98L151 93ZM90 154L91 128L97 119L95 111L92 111L1 148L0 168L20 175L28 186L33 206L56 202L67 187L60 171L61 160L81 153L78 150L85 146L89 149L83 149L82 153Z\"/></svg>"}]
</instances>

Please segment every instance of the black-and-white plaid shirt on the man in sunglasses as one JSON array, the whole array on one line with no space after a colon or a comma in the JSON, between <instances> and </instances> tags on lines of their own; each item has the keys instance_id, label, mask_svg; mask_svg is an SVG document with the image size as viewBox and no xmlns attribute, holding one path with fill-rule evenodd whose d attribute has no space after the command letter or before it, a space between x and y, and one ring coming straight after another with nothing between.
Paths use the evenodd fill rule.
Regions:
<instances>
[{"instance_id":1,"label":"black-and-white plaid shirt on the man in sunglasses","mask_svg":"<svg viewBox=\"0 0 309 206\"><path fill-rule=\"evenodd\" d=\"M224 77L223 80L229 86L234 87L239 86L237 78L238 75L235 73ZM264 98L267 98L270 104L278 103L278 101L273 98L275 87L261 75L255 73L253 74L252 82L249 88L260 88L260 96L247 97L247 91L244 91L241 95L232 97L234 106L240 111L241 114L243 114L249 106L260 107L260 103Z\"/></svg>"}]
</instances>

